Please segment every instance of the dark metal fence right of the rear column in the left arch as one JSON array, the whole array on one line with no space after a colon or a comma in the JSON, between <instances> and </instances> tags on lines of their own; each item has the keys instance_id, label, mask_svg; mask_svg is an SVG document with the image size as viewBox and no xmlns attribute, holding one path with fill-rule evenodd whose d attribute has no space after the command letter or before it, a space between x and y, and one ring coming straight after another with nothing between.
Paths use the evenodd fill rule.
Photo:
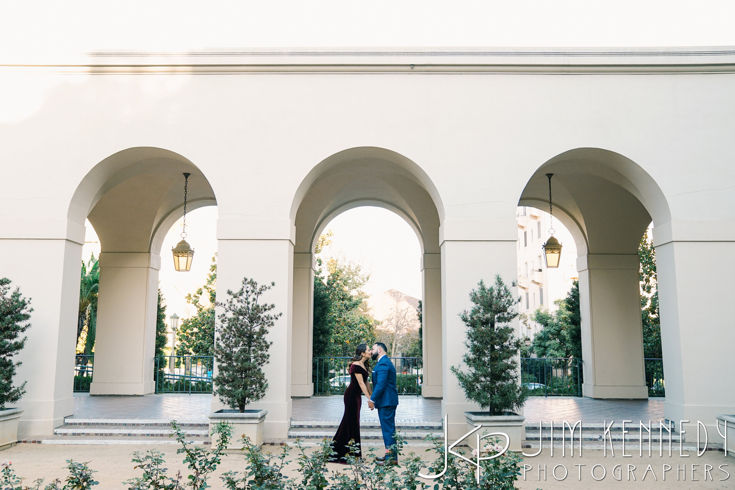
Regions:
<instances>
[{"instance_id":1,"label":"dark metal fence right of the rear column in the left arch","mask_svg":"<svg viewBox=\"0 0 735 490\"><path fill-rule=\"evenodd\" d=\"M154 358L156 393L211 393L212 356Z\"/></svg>"}]
</instances>

